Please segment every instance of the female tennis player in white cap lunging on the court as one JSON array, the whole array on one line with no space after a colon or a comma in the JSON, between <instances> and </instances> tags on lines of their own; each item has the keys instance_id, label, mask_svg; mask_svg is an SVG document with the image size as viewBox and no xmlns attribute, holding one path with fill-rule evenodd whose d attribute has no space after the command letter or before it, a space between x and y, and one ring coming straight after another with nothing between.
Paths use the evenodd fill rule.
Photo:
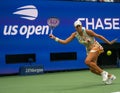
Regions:
<instances>
[{"instance_id":1,"label":"female tennis player in white cap lunging on the court","mask_svg":"<svg viewBox=\"0 0 120 93\"><path fill-rule=\"evenodd\" d=\"M102 76L102 81L105 84L112 84L112 81L116 79L116 76L113 74L109 74L108 72L102 70L97 65L98 56L104 52L103 47L95 40L95 38L99 38L103 40L107 44L113 44L116 42L117 39L112 41L107 40L102 35L96 34L92 30L82 29L82 23L77 20L74 22L74 27L76 29L68 38L65 40L59 39L58 37L50 34L50 38L54 39L55 41L61 44L67 44L72 41L74 38L77 38L78 42L85 45L87 57L85 59L85 64L88 65L91 72L94 74Z\"/></svg>"}]
</instances>

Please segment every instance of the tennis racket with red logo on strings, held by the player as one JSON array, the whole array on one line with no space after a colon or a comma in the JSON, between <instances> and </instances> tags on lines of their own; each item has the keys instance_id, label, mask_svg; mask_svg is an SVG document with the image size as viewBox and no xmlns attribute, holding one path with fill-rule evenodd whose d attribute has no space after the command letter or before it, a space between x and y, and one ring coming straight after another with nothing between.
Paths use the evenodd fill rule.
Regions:
<instances>
[{"instance_id":1,"label":"tennis racket with red logo on strings, held by the player","mask_svg":"<svg viewBox=\"0 0 120 93\"><path fill-rule=\"evenodd\" d=\"M53 33L53 30L59 25L60 21L57 17L50 17L48 20L47 20L47 24L49 25L50 27L50 34Z\"/></svg>"}]
</instances>

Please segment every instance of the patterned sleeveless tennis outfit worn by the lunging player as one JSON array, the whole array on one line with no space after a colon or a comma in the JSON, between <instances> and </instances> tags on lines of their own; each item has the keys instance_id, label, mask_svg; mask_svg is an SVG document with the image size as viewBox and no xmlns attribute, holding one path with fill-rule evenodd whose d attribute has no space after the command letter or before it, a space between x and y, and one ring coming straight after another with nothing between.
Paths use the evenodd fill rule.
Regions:
<instances>
[{"instance_id":1,"label":"patterned sleeveless tennis outfit worn by the lunging player","mask_svg":"<svg viewBox=\"0 0 120 93\"><path fill-rule=\"evenodd\" d=\"M89 36L85 29L82 29L83 36L80 36L78 32L76 32L75 37L78 39L78 42L83 44L86 47L87 55L89 52L104 52L103 47L95 40L94 37Z\"/></svg>"}]
</instances>

